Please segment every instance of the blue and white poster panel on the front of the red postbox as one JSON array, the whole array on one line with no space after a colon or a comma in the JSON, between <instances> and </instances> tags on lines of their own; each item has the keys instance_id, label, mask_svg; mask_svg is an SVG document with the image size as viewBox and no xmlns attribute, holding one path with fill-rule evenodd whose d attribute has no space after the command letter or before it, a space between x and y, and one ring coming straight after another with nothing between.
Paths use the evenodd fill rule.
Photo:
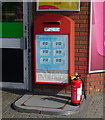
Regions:
<instances>
[{"instance_id":1,"label":"blue and white poster panel on the front of the red postbox","mask_svg":"<svg viewBox=\"0 0 105 120\"><path fill-rule=\"evenodd\" d=\"M37 82L68 83L68 35L36 35Z\"/></svg>"}]
</instances>

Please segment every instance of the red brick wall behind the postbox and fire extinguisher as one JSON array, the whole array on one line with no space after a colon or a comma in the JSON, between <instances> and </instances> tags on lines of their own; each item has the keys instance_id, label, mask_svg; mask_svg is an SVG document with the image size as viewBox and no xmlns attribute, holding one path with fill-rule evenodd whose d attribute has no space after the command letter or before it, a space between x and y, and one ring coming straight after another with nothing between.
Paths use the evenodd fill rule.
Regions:
<instances>
[{"instance_id":1,"label":"red brick wall behind the postbox and fire extinguisher","mask_svg":"<svg viewBox=\"0 0 105 120\"><path fill-rule=\"evenodd\" d=\"M103 88L105 86L105 73L88 73L90 3L82 2L80 5L80 11L75 12L35 12L35 8L33 11L34 20L38 16L44 15L46 13L57 13L68 16L75 21L75 72L81 74L81 77L85 82L85 89L87 90L87 94L103 92ZM70 86L61 85L34 85L34 87L35 90L48 92L70 93L71 91Z\"/></svg>"}]
</instances>

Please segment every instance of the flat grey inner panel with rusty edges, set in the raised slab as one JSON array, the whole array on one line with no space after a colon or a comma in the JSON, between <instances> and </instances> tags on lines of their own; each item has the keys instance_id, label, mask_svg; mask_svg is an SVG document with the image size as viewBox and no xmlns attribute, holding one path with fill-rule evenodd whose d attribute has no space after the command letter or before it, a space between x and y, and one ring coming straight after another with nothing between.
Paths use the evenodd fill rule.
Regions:
<instances>
[{"instance_id":1,"label":"flat grey inner panel with rusty edges, set in the raised slab","mask_svg":"<svg viewBox=\"0 0 105 120\"><path fill-rule=\"evenodd\" d=\"M32 107L44 107L44 108L55 108L58 109L68 100L62 100L61 98L56 98L55 96L38 96L32 95L27 101L24 102L25 106Z\"/></svg>"}]
</instances>

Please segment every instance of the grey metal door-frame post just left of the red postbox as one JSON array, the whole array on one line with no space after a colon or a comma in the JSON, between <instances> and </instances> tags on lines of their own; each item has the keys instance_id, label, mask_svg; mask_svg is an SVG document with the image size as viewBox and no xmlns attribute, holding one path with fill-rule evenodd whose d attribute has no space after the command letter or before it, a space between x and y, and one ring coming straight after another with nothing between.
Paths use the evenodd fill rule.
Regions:
<instances>
[{"instance_id":1,"label":"grey metal door-frame post just left of the red postbox","mask_svg":"<svg viewBox=\"0 0 105 120\"><path fill-rule=\"evenodd\" d=\"M32 29L32 2L23 3L24 21L24 82L27 90L32 91L32 65L31 65L31 29Z\"/></svg>"}]
</instances>

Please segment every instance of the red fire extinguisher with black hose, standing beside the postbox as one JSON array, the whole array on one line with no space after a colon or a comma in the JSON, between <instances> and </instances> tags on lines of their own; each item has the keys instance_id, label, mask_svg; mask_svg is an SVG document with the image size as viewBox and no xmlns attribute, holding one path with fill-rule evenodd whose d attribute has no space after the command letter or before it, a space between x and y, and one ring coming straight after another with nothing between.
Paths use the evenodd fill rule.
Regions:
<instances>
[{"instance_id":1,"label":"red fire extinguisher with black hose, standing beside the postbox","mask_svg":"<svg viewBox=\"0 0 105 120\"><path fill-rule=\"evenodd\" d=\"M82 91L84 91L84 98L86 99L83 80L80 78L80 75L76 73L71 76L71 105L80 105L82 100Z\"/></svg>"}]
</instances>

